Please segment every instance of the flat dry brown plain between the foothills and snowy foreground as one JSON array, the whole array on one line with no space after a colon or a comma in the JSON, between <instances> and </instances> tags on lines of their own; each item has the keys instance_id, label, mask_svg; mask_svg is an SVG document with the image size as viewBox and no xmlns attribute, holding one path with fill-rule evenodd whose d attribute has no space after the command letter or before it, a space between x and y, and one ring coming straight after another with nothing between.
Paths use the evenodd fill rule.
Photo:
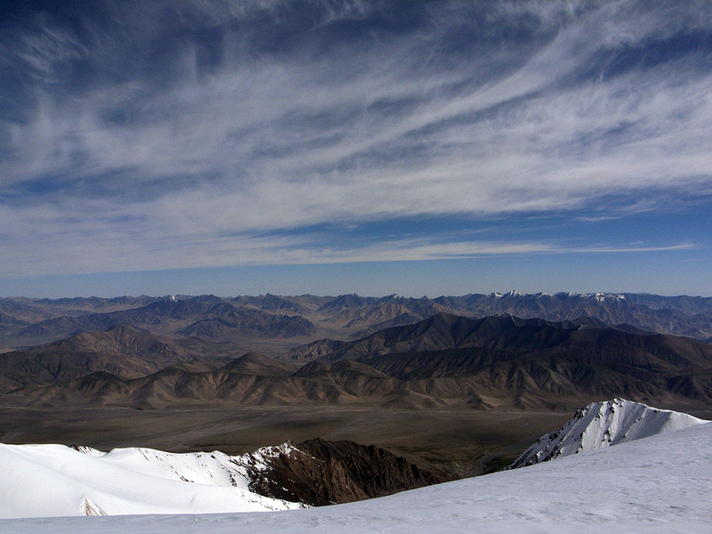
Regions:
<instances>
[{"instance_id":1,"label":"flat dry brown plain between the foothills and snowy foreground","mask_svg":"<svg viewBox=\"0 0 712 534\"><path fill-rule=\"evenodd\" d=\"M569 412L410 410L372 407L0 407L4 443L81 444L101 450L150 447L240 454L316 437L391 449L424 467L461 477L496 469Z\"/></svg>"}]
</instances>

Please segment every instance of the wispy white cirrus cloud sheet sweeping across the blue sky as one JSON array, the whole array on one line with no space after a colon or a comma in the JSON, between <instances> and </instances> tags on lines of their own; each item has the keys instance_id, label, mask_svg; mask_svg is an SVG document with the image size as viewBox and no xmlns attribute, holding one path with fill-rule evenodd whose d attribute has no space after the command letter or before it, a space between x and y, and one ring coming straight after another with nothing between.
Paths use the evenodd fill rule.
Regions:
<instances>
[{"instance_id":1,"label":"wispy white cirrus cloud sheet sweeping across the blue sky","mask_svg":"<svg viewBox=\"0 0 712 534\"><path fill-rule=\"evenodd\" d=\"M336 20L362 20L380 7L320 5L315 40ZM21 269L23 259L40 272L555 252L536 241L408 239L317 251L313 237L255 236L393 217L565 212L617 193L712 190L711 52L615 76L602 63L616 47L643 51L681 29L709 30L708 4L492 5L491 25L535 17L521 57L498 41L469 56L443 54L439 40L462 16L457 9L473 9L466 3L447 12L433 4L432 23L360 41L363 48L321 41L298 53L250 52L249 36L231 26L286 16L284 3L268 1L109 4L120 31L93 47L61 28L21 36L17 57L32 72L52 73L79 54L101 74L111 47L125 48L128 37L137 39L137 61L150 61L141 47L167 31L157 20L170 12L187 28L217 28L219 59L202 69L202 44L188 40L170 65L157 66L171 78L165 85L135 73L61 93L36 85L28 120L0 123L8 155L0 193L10 198L0 212L4 247L18 258L4 269ZM473 39L477 30L469 28ZM602 76L583 77L591 68ZM54 261L40 251L53 240L63 255Z\"/></svg>"}]
</instances>

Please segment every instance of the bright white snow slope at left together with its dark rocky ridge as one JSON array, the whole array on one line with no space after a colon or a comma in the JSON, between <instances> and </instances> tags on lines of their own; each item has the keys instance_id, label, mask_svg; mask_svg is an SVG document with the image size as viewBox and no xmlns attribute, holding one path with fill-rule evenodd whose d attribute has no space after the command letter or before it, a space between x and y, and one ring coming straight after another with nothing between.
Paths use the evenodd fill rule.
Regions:
<instances>
[{"instance_id":1,"label":"bright white snow slope at left together with its dark rocky ridge","mask_svg":"<svg viewBox=\"0 0 712 534\"><path fill-rule=\"evenodd\" d=\"M240 456L0 444L0 466L0 518L286 510L444 480L386 449L321 439Z\"/></svg>"}]
</instances>

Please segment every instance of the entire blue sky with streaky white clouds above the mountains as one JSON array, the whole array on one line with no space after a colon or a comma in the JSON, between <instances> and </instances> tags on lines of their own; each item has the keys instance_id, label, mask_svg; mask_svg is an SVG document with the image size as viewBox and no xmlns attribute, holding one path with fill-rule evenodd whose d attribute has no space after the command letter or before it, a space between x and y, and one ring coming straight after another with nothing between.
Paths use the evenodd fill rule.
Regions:
<instances>
[{"instance_id":1,"label":"entire blue sky with streaky white clouds above the mountains","mask_svg":"<svg viewBox=\"0 0 712 534\"><path fill-rule=\"evenodd\" d=\"M712 3L0 2L0 295L712 295Z\"/></svg>"}]
</instances>

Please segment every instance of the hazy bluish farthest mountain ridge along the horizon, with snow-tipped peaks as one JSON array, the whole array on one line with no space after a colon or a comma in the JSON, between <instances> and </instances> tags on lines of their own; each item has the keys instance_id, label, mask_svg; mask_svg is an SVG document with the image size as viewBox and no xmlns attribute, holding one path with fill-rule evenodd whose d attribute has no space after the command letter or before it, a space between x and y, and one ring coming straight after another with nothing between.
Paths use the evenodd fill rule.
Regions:
<instances>
[{"instance_id":1,"label":"hazy bluish farthest mountain ridge along the horizon, with snow-tipped peaks","mask_svg":"<svg viewBox=\"0 0 712 534\"><path fill-rule=\"evenodd\" d=\"M712 297L647 294L489 295L410 298L399 295L220 297L177 295L70 299L0 298L0 348L45 344L81 331L126 324L159 336L202 336L240 342L248 350L277 354L293 344L324 337L360 339L437 313L481 318L511 314L523 319L590 320L608 326L712 338ZM626 327L627 325L627 327ZM275 348L270 349L270 340ZM255 342L252 346L249 343ZM278 348L279 346L279 348Z\"/></svg>"}]
</instances>

